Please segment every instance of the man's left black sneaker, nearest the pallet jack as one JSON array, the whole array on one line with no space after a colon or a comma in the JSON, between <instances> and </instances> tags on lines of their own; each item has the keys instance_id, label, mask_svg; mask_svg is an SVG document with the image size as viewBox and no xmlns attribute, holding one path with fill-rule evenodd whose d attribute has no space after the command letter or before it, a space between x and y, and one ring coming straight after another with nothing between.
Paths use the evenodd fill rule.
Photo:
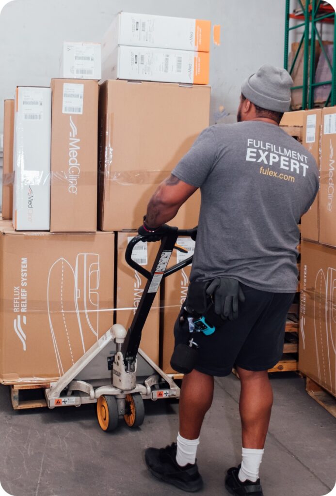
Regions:
<instances>
[{"instance_id":1,"label":"man's left black sneaker, nearest the pallet jack","mask_svg":"<svg viewBox=\"0 0 336 496\"><path fill-rule=\"evenodd\" d=\"M203 487L203 480L196 463L180 467L176 461L177 444L173 442L165 448L147 448L146 465L149 471L161 481L173 484L183 491L195 493Z\"/></svg>"}]
</instances>

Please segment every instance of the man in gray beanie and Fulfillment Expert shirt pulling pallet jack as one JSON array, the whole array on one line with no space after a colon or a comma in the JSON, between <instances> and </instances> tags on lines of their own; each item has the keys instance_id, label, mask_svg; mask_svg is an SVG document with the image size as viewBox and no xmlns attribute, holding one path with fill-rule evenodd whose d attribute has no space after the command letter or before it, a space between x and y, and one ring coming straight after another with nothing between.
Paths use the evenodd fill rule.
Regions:
<instances>
[{"instance_id":1,"label":"man in gray beanie and Fulfillment Expert shirt pulling pallet jack","mask_svg":"<svg viewBox=\"0 0 336 496\"><path fill-rule=\"evenodd\" d=\"M273 399L267 371L281 357L296 292L297 224L319 187L314 158L278 126L289 110L292 84L286 70L271 65L252 74L241 89L238 123L202 131L150 199L139 228L141 234L164 233L162 225L201 188L190 287L206 284L222 324L209 336L199 333L197 364L183 379L177 443L145 453L156 477L185 491L202 488L196 450L213 377L228 375L235 364L241 380L242 463L228 470L225 487L237 496L263 496L259 466ZM227 308L225 301L234 304ZM188 339L183 308L174 333L176 345Z\"/></svg>"}]
</instances>

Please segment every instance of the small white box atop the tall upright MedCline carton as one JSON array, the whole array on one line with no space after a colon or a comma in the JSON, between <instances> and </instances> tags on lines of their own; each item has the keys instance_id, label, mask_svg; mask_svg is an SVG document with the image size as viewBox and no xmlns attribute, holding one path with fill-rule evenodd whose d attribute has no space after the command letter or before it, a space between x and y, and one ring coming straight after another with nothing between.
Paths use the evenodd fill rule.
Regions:
<instances>
[{"instance_id":1,"label":"small white box atop the tall upright MedCline carton","mask_svg":"<svg viewBox=\"0 0 336 496\"><path fill-rule=\"evenodd\" d=\"M65 79L101 79L101 44L63 43L60 77Z\"/></svg>"}]
</instances>

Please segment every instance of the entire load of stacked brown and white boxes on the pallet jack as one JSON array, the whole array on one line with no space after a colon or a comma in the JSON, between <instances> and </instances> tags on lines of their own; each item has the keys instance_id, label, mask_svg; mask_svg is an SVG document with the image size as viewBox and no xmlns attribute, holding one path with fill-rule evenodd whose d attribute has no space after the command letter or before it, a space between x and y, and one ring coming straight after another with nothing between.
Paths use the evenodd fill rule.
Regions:
<instances>
[{"instance_id":1,"label":"entire load of stacked brown and white boxes on the pallet jack","mask_svg":"<svg viewBox=\"0 0 336 496\"><path fill-rule=\"evenodd\" d=\"M137 42L127 38L130 22L140 26ZM123 13L114 26L105 60L137 46L147 69L163 61L158 78L136 79L207 82L208 21L134 21ZM99 87L100 69L99 44L64 43L62 78L51 88L19 86L5 104L4 214L14 229L1 219L0 382L49 382L113 321L129 327L145 280L125 262L127 243L151 194L209 123L209 87L118 80ZM172 224L194 227L199 209L197 192ZM151 266L157 248L137 246L134 256ZM159 306L157 295L140 345L155 363Z\"/></svg>"}]
</instances>

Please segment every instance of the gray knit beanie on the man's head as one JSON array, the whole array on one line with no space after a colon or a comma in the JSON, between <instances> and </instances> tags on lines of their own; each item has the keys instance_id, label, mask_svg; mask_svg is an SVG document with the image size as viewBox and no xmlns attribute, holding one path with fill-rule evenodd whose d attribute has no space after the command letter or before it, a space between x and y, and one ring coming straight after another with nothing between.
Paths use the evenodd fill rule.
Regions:
<instances>
[{"instance_id":1,"label":"gray knit beanie on the man's head","mask_svg":"<svg viewBox=\"0 0 336 496\"><path fill-rule=\"evenodd\" d=\"M258 107L274 112L287 112L291 86L293 80L286 69L265 64L244 82L242 93Z\"/></svg>"}]
</instances>

